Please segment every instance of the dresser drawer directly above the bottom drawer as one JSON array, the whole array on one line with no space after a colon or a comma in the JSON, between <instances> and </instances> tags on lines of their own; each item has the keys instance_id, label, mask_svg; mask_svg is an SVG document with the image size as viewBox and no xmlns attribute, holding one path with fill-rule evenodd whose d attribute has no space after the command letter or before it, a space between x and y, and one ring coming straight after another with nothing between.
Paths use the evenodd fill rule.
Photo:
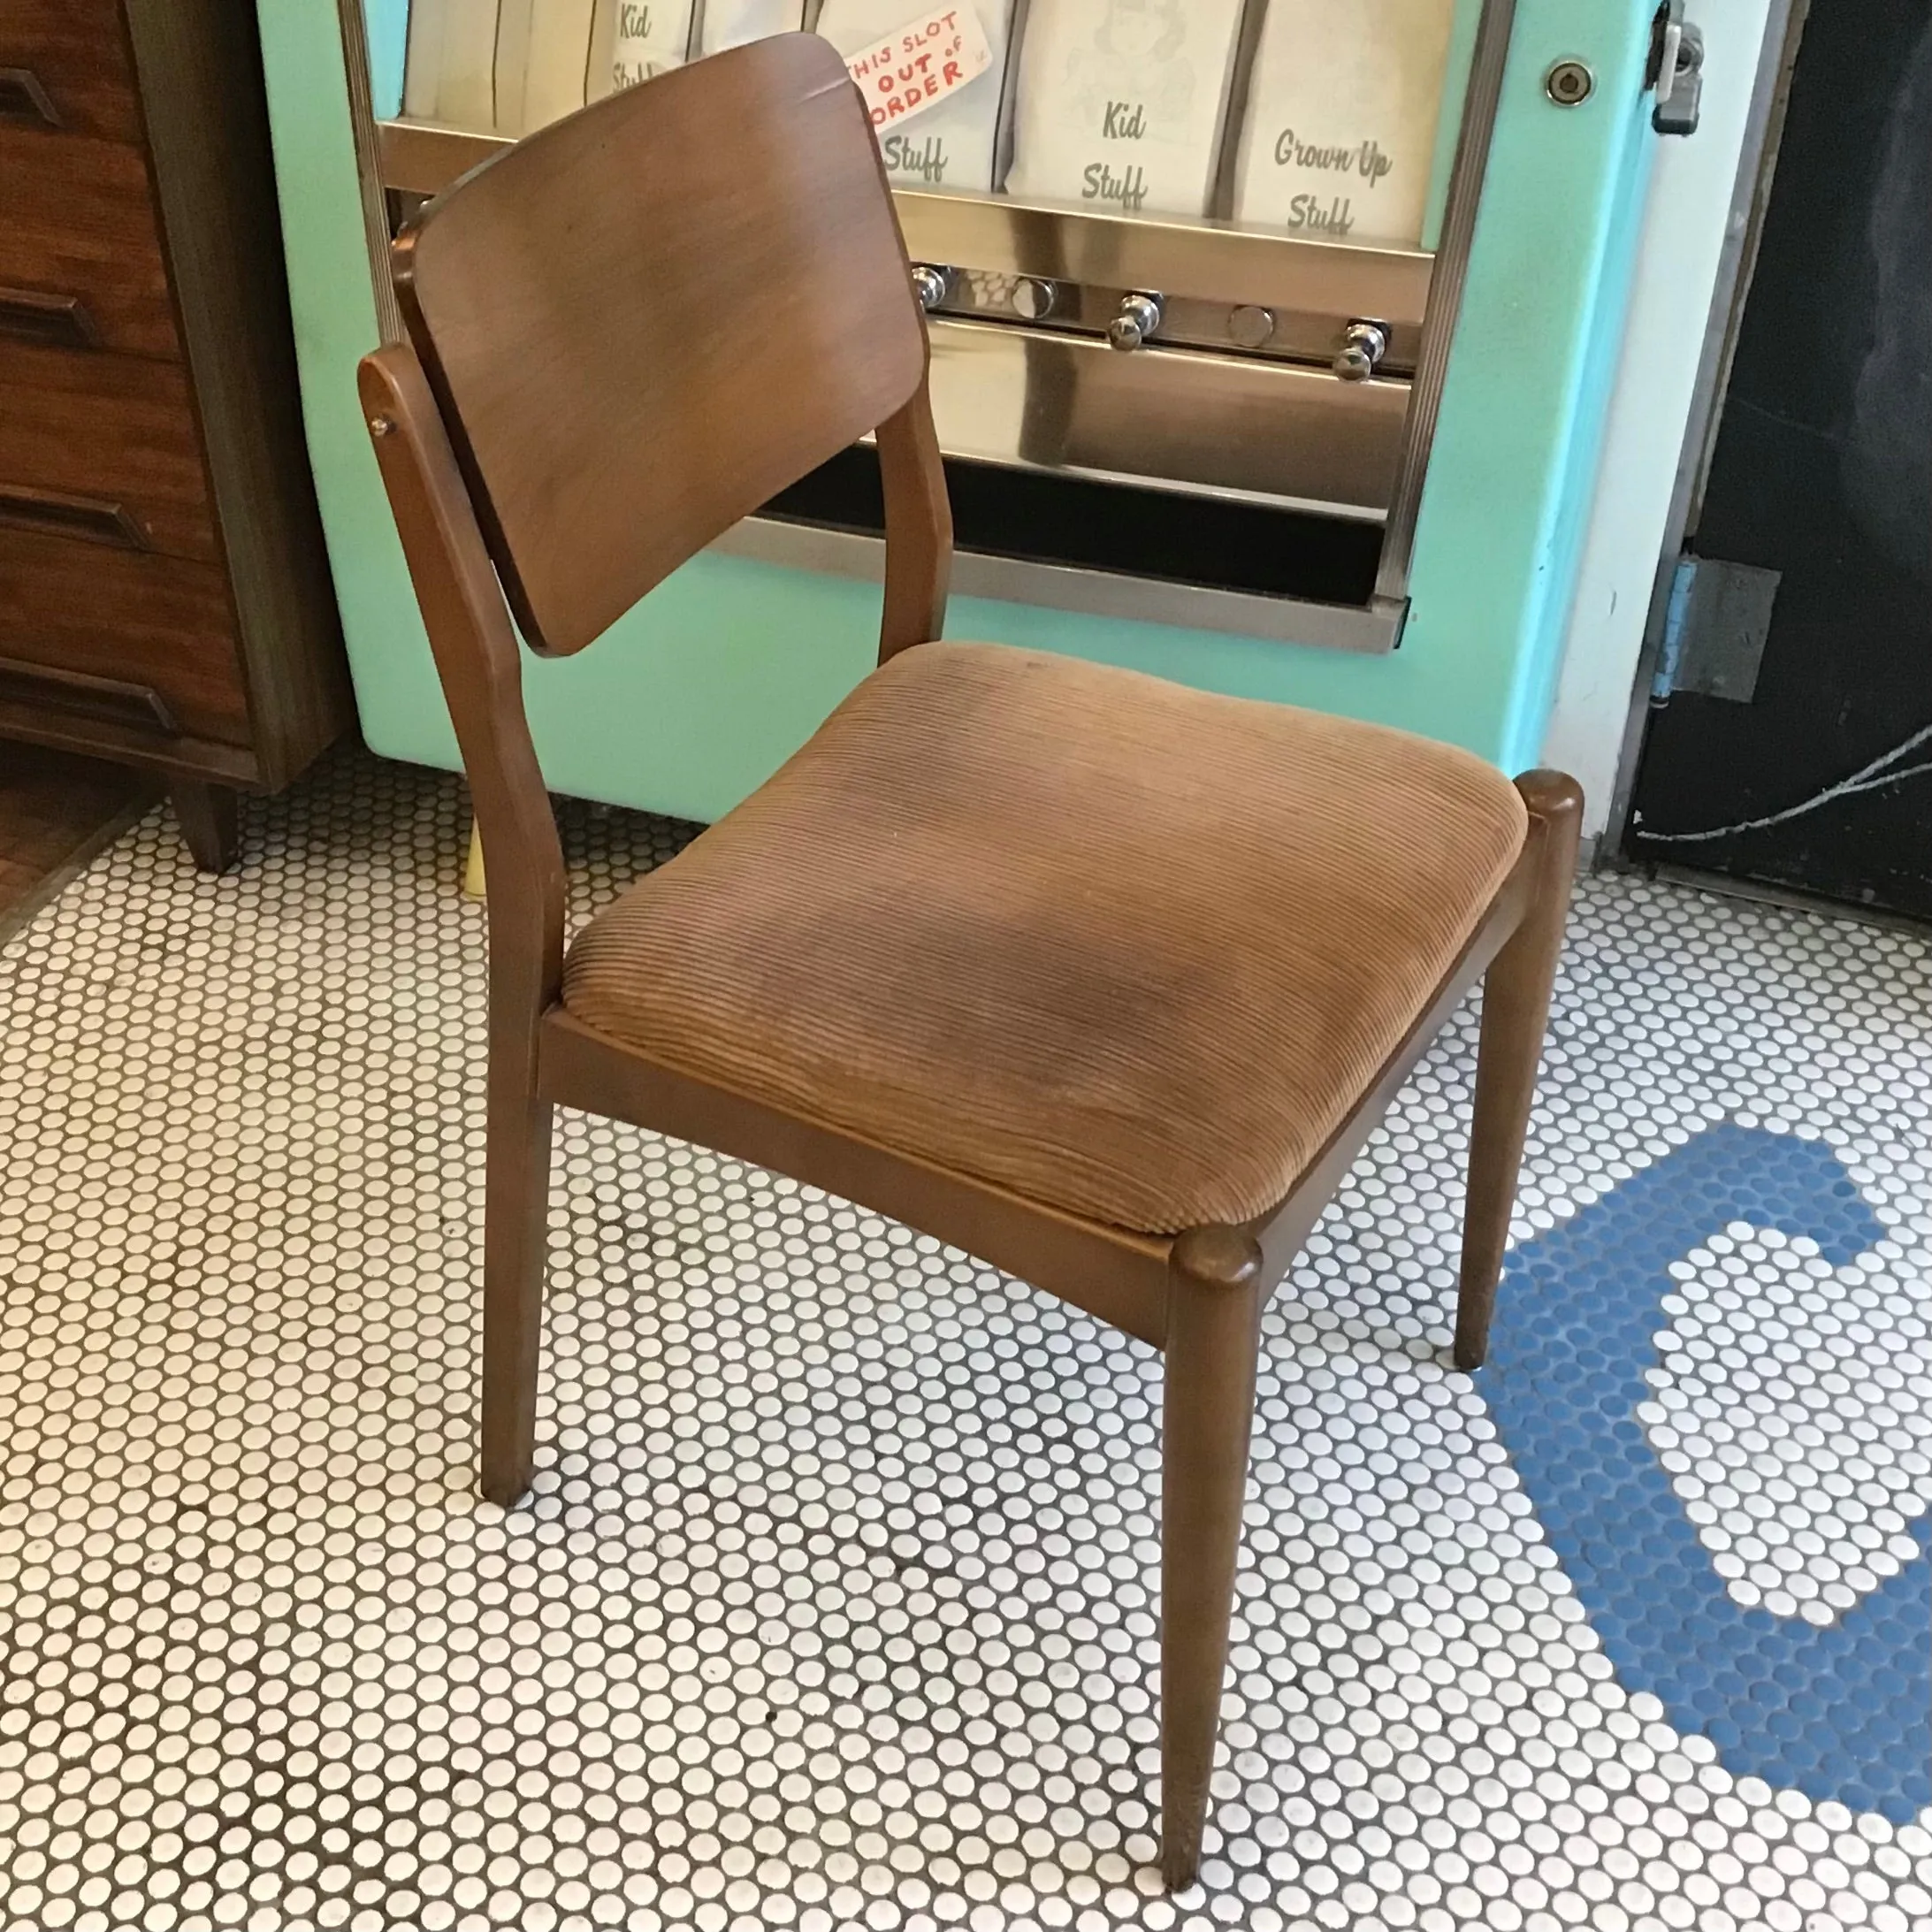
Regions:
<instances>
[{"instance_id":1,"label":"dresser drawer directly above the bottom drawer","mask_svg":"<svg viewBox=\"0 0 1932 1932\"><path fill-rule=\"evenodd\" d=\"M218 562L182 363L0 338L0 526Z\"/></svg>"}]
</instances>

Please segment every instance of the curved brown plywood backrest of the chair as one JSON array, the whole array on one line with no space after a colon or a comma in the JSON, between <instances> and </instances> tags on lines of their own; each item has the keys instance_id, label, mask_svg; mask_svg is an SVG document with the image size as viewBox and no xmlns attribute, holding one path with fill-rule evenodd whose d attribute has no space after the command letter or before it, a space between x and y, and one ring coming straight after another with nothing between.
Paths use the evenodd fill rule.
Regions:
<instances>
[{"instance_id":1,"label":"curved brown plywood backrest of the chair","mask_svg":"<svg viewBox=\"0 0 1932 1932\"><path fill-rule=\"evenodd\" d=\"M866 108L779 35L545 128L396 243L417 357L527 643L580 651L920 394Z\"/></svg>"}]
</instances>

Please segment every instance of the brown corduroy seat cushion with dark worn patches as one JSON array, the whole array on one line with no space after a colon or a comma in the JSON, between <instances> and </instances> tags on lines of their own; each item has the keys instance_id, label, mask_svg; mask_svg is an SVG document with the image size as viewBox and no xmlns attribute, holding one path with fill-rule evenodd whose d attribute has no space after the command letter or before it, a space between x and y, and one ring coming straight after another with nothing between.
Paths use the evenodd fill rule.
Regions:
<instances>
[{"instance_id":1,"label":"brown corduroy seat cushion with dark worn patches","mask_svg":"<svg viewBox=\"0 0 1932 1932\"><path fill-rule=\"evenodd\" d=\"M1524 831L1513 784L1426 738L929 643L599 914L564 1005L1053 1208L1246 1221L1362 1097Z\"/></svg>"}]
</instances>

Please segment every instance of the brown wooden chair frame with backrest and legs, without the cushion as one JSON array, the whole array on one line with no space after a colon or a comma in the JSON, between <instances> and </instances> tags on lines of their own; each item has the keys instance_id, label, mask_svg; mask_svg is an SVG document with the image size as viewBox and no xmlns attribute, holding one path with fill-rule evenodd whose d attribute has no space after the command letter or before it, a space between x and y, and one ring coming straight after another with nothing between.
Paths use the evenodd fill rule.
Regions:
<instances>
[{"instance_id":1,"label":"brown wooden chair frame with backrest and legs, without the cushion","mask_svg":"<svg viewBox=\"0 0 1932 1932\"><path fill-rule=\"evenodd\" d=\"M711 139L724 128L728 141ZM1455 1331L1455 1360L1482 1360L1577 862L1577 784L1519 781L1528 837L1513 871L1352 1113L1246 1225L1128 1233L678 1072L562 1007L564 867L518 630L541 653L582 647L732 522L875 433L881 663L939 638L952 524L925 330L864 108L811 37L701 62L487 162L398 240L394 267L410 342L363 361L361 404L491 887L483 1492L512 1503L533 1470L558 1105L862 1202L1138 1335L1165 1354L1161 1862L1184 1888L1208 1808L1264 1304L1410 1066L1486 980Z\"/></svg>"}]
</instances>

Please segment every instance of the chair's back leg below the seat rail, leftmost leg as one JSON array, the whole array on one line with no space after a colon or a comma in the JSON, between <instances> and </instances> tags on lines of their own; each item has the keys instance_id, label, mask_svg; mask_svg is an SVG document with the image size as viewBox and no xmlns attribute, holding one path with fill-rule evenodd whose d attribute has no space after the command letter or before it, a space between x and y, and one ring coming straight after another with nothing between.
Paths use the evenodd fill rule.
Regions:
<instances>
[{"instance_id":1,"label":"chair's back leg below the seat rail, leftmost leg","mask_svg":"<svg viewBox=\"0 0 1932 1932\"><path fill-rule=\"evenodd\" d=\"M508 1074L500 1086L510 1086ZM551 1219L551 1103L491 1094L483 1198L483 1493L506 1509L537 1461L537 1352Z\"/></svg>"}]
</instances>

